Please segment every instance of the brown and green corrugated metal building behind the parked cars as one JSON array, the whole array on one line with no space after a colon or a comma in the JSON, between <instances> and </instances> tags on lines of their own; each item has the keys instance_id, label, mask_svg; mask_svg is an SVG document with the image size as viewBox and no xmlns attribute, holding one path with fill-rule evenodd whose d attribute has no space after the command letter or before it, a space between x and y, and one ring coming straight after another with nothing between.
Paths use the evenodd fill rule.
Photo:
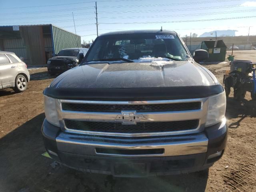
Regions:
<instances>
[{"instance_id":1,"label":"brown and green corrugated metal building behind the parked cars","mask_svg":"<svg viewBox=\"0 0 256 192\"><path fill-rule=\"evenodd\" d=\"M44 65L65 48L81 47L81 37L52 24L0 26L0 50L16 53L31 65Z\"/></svg>"}]
</instances>

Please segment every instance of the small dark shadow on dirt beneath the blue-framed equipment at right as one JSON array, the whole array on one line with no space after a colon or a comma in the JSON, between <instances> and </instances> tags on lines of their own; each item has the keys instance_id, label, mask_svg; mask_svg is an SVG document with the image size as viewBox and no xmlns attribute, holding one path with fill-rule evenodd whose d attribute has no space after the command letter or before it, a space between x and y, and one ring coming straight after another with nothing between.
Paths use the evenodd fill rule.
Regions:
<instances>
[{"instance_id":1,"label":"small dark shadow on dirt beneath the blue-framed equipment at right","mask_svg":"<svg viewBox=\"0 0 256 192\"><path fill-rule=\"evenodd\" d=\"M228 119L239 118L237 122L229 124L229 128L238 128L244 118L256 117L256 102L254 100L237 101L234 98L227 98L226 117Z\"/></svg>"}]
</instances>

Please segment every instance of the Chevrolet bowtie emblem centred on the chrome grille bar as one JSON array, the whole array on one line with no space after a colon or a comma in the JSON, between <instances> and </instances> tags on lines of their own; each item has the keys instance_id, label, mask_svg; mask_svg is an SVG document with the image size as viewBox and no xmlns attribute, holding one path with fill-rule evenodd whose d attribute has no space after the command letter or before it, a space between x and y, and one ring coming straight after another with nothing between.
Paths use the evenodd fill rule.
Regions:
<instances>
[{"instance_id":1,"label":"Chevrolet bowtie emblem centred on the chrome grille bar","mask_svg":"<svg viewBox=\"0 0 256 192\"><path fill-rule=\"evenodd\" d=\"M142 115L136 115L136 111L122 111L122 115L116 116L116 121L122 124L136 124L142 117Z\"/></svg>"}]
</instances>

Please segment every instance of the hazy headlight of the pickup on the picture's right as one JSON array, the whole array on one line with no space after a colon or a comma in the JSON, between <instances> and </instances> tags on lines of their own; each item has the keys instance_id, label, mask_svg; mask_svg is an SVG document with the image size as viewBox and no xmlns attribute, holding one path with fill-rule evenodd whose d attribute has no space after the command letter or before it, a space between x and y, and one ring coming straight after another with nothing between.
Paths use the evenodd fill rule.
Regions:
<instances>
[{"instance_id":1,"label":"hazy headlight of the pickup on the picture's right","mask_svg":"<svg viewBox=\"0 0 256 192\"><path fill-rule=\"evenodd\" d=\"M226 112L226 93L225 91L209 97L209 107L205 126L212 126L221 122Z\"/></svg>"}]
</instances>

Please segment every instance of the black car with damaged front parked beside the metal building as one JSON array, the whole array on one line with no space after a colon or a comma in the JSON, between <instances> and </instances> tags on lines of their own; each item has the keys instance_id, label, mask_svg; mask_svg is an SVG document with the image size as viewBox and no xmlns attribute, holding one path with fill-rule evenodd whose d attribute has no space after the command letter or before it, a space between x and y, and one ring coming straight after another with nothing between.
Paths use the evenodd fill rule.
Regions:
<instances>
[{"instance_id":1,"label":"black car with damaged front parked beside the metal building","mask_svg":"<svg viewBox=\"0 0 256 192\"><path fill-rule=\"evenodd\" d=\"M70 48L61 50L57 56L48 59L47 69L51 75L60 74L80 64L79 54L87 53L88 48Z\"/></svg>"}]
</instances>

